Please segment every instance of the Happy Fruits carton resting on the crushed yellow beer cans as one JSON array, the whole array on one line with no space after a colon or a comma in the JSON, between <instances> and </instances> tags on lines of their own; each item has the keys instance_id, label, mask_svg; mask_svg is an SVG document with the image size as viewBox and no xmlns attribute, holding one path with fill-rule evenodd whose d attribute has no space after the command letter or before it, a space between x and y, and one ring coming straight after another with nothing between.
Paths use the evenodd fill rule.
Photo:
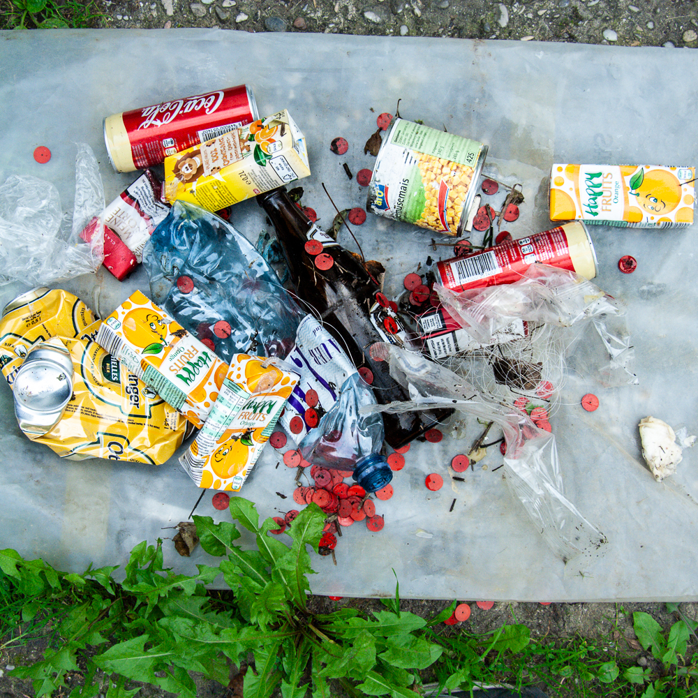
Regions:
<instances>
[{"instance_id":1,"label":"Happy Fruits carton resting on the crushed yellow beer cans","mask_svg":"<svg viewBox=\"0 0 698 698\"><path fill-rule=\"evenodd\" d=\"M96 342L194 426L203 426L226 366L140 291L104 320Z\"/></svg>"}]
</instances>

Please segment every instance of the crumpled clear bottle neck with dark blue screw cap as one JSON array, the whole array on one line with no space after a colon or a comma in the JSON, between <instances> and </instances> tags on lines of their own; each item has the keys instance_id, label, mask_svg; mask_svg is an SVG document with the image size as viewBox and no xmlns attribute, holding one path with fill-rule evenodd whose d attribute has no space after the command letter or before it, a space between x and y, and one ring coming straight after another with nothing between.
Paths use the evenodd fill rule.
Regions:
<instances>
[{"instance_id":1,"label":"crumpled clear bottle neck with dark blue screw cap","mask_svg":"<svg viewBox=\"0 0 698 698\"><path fill-rule=\"evenodd\" d=\"M392 480L392 470L379 453L385 436L383 419L378 413L359 414L362 407L375 404L371 389L358 373L352 373L334 406L299 444L303 458L320 468L352 470L354 480L367 492L385 487Z\"/></svg>"}]
</instances>

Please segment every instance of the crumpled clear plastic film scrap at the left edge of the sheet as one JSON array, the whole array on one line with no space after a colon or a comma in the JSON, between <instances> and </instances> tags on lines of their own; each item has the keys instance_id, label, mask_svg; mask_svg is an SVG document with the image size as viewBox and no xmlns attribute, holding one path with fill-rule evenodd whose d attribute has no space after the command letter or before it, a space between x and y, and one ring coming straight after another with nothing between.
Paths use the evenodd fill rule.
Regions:
<instances>
[{"instance_id":1,"label":"crumpled clear plastic film scrap at the left edge of the sheet","mask_svg":"<svg viewBox=\"0 0 698 698\"><path fill-rule=\"evenodd\" d=\"M77 146L72 221L64 216L51 182L8 177L0 184L0 284L44 285L96 272L103 260L103 237L95 235L86 243L80 232L103 209L99 166L87 144Z\"/></svg>"}]
</instances>

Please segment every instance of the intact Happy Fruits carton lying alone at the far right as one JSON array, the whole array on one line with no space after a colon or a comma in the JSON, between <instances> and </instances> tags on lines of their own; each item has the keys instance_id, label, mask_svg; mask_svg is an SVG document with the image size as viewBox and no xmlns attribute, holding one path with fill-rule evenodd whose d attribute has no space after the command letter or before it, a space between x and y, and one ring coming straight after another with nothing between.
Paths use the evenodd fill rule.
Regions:
<instances>
[{"instance_id":1,"label":"intact Happy Fruits carton lying alone at the far right","mask_svg":"<svg viewBox=\"0 0 698 698\"><path fill-rule=\"evenodd\" d=\"M693 223L695 167L553 165L550 220L619 228L684 228Z\"/></svg>"}]
</instances>

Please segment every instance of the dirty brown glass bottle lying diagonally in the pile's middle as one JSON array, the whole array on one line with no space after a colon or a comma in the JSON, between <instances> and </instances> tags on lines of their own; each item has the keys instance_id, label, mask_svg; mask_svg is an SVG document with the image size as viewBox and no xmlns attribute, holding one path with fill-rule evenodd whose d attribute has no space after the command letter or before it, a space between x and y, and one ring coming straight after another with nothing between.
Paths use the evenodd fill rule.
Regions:
<instances>
[{"instance_id":1,"label":"dirty brown glass bottle lying diagonally in the pile's middle","mask_svg":"<svg viewBox=\"0 0 698 698\"><path fill-rule=\"evenodd\" d=\"M369 348L391 342L408 349L410 340L389 309L375 279L362 262L322 232L288 197L284 187L257 197L276 229L297 294L322 316L328 332L346 349L359 369L373 373L373 394L379 403L406 401L405 389L390 376L387 362L374 361ZM309 243L309 241L316 241ZM383 413L385 440L399 448L443 421L452 410Z\"/></svg>"}]
</instances>

